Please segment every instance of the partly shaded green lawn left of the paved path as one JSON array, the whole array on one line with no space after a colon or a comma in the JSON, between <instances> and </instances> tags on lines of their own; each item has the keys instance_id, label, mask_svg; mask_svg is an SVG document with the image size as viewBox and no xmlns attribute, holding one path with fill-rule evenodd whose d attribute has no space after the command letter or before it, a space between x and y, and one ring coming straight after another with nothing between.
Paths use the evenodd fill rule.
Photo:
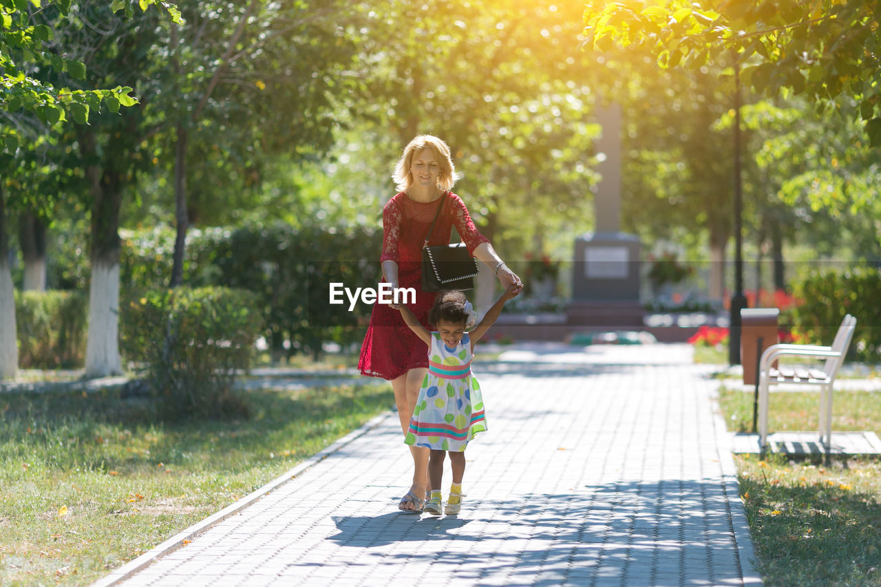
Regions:
<instances>
[{"instance_id":1,"label":"partly shaded green lawn left of the paved path","mask_svg":"<svg viewBox=\"0 0 881 587\"><path fill-rule=\"evenodd\" d=\"M394 403L389 386L248 394L249 420L163 423L117 390L0 396L0 584L88 584Z\"/></svg>"}]
</instances>

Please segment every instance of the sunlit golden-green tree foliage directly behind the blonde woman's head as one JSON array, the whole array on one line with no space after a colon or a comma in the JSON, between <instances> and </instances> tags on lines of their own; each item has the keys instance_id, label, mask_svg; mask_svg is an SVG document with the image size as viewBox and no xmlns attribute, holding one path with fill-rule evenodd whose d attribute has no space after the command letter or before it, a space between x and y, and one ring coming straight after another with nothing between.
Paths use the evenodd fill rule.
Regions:
<instances>
[{"instance_id":1,"label":"sunlit golden-green tree foliage directly behind the blonde woman's head","mask_svg":"<svg viewBox=\"0 0 881 587\"><path fill-rule=\"evenodd\" d=\"M580 10L514 0L376 8L361 42L367 104L343 152L347 165L369 158L378 167L344 193L363 194L378 219L403 145L428 133L453 149L456 190L512 264L589 228L598 126L590 64L570 50Z\"/></svg>"}]
</instances>

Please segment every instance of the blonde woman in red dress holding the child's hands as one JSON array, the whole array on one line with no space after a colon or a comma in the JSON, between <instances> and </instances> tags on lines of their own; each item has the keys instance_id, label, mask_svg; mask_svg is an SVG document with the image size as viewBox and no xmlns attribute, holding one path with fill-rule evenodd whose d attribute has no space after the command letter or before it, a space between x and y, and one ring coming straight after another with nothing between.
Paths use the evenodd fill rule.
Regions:
<instances>
[{"instance_id":1,"label":"blonde woman in red dress holding the child's hands","mask_svg":"<svg viewBox=\"0 0 881 587\"><path fill-rule=\"evenodd\" d=\"M470 254L493 271L502 287L522 286L520 278L496 254L490 241L478 232L463 201L449 191L456 176L446 143L431 135L415 137L404 148L392 177L399 191L382 210L382 277L392 287L416 290L416 303L408 308L419 323L429 327L428 310L436 295L422 291L421 261L422 245L439 205L441 212L428 244L448 243L455 226ZM391 382L401 430L406 434L419 386L428 372L428 358L426 343L403 322L399 308L395 304L374 305L358 367L363 375ZM398 509L420 512L428 488L428 450L420 447L410 450L413 482Z\"/></svg>"}]
</instances>

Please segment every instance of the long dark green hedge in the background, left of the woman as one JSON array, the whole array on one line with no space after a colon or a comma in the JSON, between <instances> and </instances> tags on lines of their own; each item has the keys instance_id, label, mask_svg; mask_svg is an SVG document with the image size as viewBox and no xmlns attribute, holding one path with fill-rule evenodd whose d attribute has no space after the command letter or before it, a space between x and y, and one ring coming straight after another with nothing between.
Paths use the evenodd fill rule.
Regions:
<instances>
[{"instance_id":1,"label":"long dark green hedge in the background, left of the woman","mask_svg":"<svg viewBox=\"0 0 881 587\"><path fill-rule=\"evenodd\" d=\"M161 289L171 275L174 232L127 232L122 249L122 291ZM381 231L360 227L293 227L284 222L234 230L192 230L184 276L189 286L226 286L257 294L263 336L278 358L317 355L322 343L359 343L372 307L353 312L328 304L328 283L375 286L381 277ZM286 348L286 351L285 351Z\"/></svg>"}]
</instances>

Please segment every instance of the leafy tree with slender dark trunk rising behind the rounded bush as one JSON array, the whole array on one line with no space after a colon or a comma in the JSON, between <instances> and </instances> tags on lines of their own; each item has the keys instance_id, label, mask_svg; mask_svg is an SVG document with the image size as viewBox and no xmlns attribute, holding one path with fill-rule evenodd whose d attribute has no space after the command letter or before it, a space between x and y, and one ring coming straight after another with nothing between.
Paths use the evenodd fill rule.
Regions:
<instances>
[{"instance_id":1,"label":"leafy tree with slender dark trunk rising behind the rounded bush","mask_svg":"<svg viewBox=\"0 0 881 587\"><path fill-rule=\"evenodd\" d=\"M226 207L217 205L218 196L258 187L260 169L280 152L290 164L320 156L331 144L332 113L353 89L344 71L357 47L344 26L355 14L352 4L337 2L193 2L184 10L189 24L171 26L172 286L183 280L190 204L210 218L213 209ZM232 185L212 176L230 169L241 178Z\"/></svg>"}]
</instances>

